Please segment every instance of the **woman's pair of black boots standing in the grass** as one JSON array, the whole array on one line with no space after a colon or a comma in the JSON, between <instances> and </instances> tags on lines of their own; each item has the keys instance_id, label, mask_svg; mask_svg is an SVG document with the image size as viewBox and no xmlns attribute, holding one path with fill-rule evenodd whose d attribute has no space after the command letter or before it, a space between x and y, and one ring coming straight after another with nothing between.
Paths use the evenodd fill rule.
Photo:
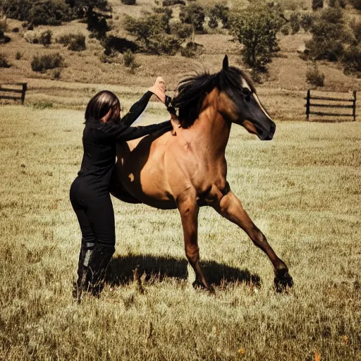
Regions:
<instances>
[{"instance_id":1,"label":"woman's pair of black boots standing in the grass","mask_svg":"<svg viewBox=\"0 0 361 361\"><path fill-rule=\"evenodd\" d=\"M95 245L92 249L80 250L78 265L78 281L75 298L81 302L82 293L99 295L104 287L106 268L114 254L114 247Z\"/></svg>"}]
</instances>

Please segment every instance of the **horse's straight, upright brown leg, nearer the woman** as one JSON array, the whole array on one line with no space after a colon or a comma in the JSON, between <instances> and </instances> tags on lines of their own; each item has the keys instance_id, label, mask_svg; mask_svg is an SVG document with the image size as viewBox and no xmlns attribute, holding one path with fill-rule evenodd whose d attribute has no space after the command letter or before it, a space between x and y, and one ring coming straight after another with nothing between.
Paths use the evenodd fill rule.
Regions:
<instances>
[{"instance_id":1,"label":"horse's straight, upright brown leg, nearer the woman","mask_svg":"<svg viewBox=\"0 0 361 361\"><path fill-rule=\"evenodd\" d=\"M213 290L209 286L200 267L200 247L198 247L198 204L195 195L186 195L177 200L179 213L181 214L185 255L195 271L196 279L193 286L201 286L207 290Z\"/></svg>"}]
</instances>

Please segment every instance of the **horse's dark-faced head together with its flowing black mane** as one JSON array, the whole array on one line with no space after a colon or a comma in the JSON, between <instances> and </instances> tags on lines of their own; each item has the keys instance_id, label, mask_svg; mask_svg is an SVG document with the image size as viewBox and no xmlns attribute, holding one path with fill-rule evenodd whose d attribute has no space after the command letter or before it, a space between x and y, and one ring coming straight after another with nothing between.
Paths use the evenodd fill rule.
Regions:
<instances>
[{"instance_id":1,"label":"horse's dark-faced head together with its flowing black mane","mask_svg":"<svg viewBox=\"0 0 361 361\"><path fill-rule=\"evenodd\" d=\"M212 92L218 94L217 100L209 97ZM219 73L200 73L182 80L172 105L179 109L182 128L192 126L204 107L214 106L226 121L245 127L261 140L271 140L276 130L276 124L259 102L252 80L244 71L228 66L227 56Z\"/></svg>"}]
</instances>

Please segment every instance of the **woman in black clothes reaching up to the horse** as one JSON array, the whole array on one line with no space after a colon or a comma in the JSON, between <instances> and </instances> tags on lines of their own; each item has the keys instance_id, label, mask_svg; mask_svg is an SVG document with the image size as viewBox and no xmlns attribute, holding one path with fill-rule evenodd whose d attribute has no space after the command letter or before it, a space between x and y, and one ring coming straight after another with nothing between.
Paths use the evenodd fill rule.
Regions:
<instances>
[{"instance_id":1,"label":"woman in black clothes reaching up to the horse","mask_svg":"<svg viewBox=\"0 0 361 361\"><path fill-rule=\"evenodd\" d=\"M142 114L152 94L162 102L166 101L164 80L157 78L122 119L121 104L112 92L99 92L87 104L82 136L84 154L78 177L70 190L71 204L82 232L78 281L73 292L78 302L84 290L99 293L106 267L115 250L114 210L109 188L116 161L116 142L172 129L170 121L152 126L130 126Z\"/></svg>"}]
</instances>

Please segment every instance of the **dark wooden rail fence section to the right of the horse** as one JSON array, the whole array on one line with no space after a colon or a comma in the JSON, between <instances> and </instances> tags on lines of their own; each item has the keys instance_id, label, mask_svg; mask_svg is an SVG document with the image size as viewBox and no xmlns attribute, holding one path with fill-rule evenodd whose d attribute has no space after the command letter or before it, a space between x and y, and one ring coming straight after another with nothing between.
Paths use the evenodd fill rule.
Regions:
<instances>
[{"instance_id":1,"label":"dark wooden rail fence section to the right of the horse","mask_svg":"<svg viewBox=\"0 0 361 361\"><path fill-rule=\"evenodd\" d=\"M345 98L332 98L332 97L311 97L311 90L307 90L307 97L306 99L306 120L310 120L310 114L314 114L317 116L352 116L353 121L356 120L356 91L353 92L353 99L345 99ZM311 104L311 100L321 100L327 102L347 102L352 104L324 104L324 103L313 103ZM343 108L343 109L352 109L353 114L345 114L345 113L326 113L325 111L311 111L311 106L317 108Z\"/></svg>"}]
</instances>

